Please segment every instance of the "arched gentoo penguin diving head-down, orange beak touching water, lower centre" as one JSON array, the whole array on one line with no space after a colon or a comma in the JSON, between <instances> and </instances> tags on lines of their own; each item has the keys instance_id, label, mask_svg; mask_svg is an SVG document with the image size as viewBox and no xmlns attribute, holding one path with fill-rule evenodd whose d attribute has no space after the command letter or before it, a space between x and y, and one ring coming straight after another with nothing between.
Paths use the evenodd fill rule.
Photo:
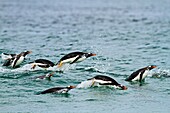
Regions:
<instances>
[{"instance_id":1,"label":"arched gentoo penguin diving head-down, orange beak touching water, lower centre","mask_svg":"<svg viewBox=\"0 0 170 113\"><path fill-rule=\"evenodd\" d=\"M127 87L123 86L121 84L119 84L118 82L116 82L113 78L108 77L108 76L104 76L104 75L97 75L93 78L90 78L88 80L92 80L92 85L91 86L113 86L116 89L122 89L122 90L126 90Z\"/></svg>"}]
</instances>

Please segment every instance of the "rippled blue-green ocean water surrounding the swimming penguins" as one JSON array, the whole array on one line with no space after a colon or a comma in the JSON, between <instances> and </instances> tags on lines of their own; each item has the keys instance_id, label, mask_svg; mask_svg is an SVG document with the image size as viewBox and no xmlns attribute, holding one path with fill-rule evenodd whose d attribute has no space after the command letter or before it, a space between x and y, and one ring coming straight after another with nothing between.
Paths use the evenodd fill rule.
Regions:
<instances>
[{"instance_id":1,"label":"rippled blue-green ocean water surrounding the swimming penguins","mask_svg":"<svg viewBox=\"0 0 170 113\"><path fill-rule=\"evenodd\" d=\"M169 12L169 0L0 0L0 54L33 52L15 69L3 67L0 59L0 112L169 113ZM56 71L51 81L30 79L56 69L31 70L29 62L56 63L74 51L97 56ZM148 65L158 67L144 84L124 81ZM95 87L37 95L98 74L128 90Z\"/></svg>"}]
</instances>

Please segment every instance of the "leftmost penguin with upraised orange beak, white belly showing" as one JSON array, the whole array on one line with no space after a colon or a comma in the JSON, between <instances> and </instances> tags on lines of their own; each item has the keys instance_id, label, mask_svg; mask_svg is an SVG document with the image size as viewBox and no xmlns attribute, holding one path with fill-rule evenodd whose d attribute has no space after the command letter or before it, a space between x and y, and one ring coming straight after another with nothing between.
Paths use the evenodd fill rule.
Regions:
<instances>
[{"instance_id":1,"label":"leftmost penguin with upraised orange beak, white belly showing","mask_svg":"<svg viewBox=\"0 0 170 113\"><path fill-rule=\"evenodd\" d=\"M19 66L24 61L25 56L30 53L32 53L32 51L25 51L18 55L14 55L12 58L5 60L3 66L11 66L12 68L15 68L16 66Z\"/></svg>"}]
</instances>

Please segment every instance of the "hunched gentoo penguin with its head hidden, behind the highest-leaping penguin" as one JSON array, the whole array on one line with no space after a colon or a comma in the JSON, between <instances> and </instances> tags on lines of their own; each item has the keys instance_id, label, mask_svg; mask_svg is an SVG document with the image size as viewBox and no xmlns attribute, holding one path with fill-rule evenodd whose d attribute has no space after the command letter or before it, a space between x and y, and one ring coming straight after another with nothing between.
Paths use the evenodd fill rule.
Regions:
<instances>
[{"instance_id":1,"label":"hunched gentoo penguin with its head hidden, behind the highest-leaping penguin","mask_svg":"<svg viewBox=\"0 0 170 113\"><path fill-rule=\"evenodd\" d=\"M53 62L46 59L37 59L34 62L31 62L31 64L32 64L31 69L34 69L36 66L39 66L41 68L49 68L55 65Z\"/></svg>"}]
</instances>

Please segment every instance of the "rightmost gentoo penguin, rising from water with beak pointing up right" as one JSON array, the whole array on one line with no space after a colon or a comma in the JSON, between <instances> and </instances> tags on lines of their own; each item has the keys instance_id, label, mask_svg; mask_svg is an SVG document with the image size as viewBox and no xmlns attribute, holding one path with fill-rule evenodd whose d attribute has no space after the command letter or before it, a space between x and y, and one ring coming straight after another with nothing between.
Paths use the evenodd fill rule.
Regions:
<instances>
[{"instance_id":1,"label":"rightmost gentoo penguin, rising from water with beak pointing up right","mask_svg":"<svg viewBox=\"0 0 170 113\"><path fill-rule=\"evenodd\" d=\"M145 77L148 75L148 72L154 68L156 68L157 66L155 65L151 65L151 66L147 66L144 68L141 68L135 72L133 72L128 78L125 79L125 81L139 81L142 82Z\"/></svg>"}]
</instances>

